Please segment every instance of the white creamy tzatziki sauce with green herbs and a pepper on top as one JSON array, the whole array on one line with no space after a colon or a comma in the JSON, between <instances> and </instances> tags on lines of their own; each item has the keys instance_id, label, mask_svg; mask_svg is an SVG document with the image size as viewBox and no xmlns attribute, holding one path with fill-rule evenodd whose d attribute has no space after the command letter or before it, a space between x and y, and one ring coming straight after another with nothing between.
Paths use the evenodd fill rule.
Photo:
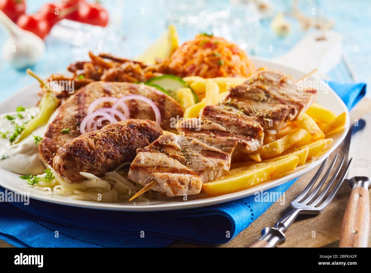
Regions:
<instances>
[{"instance_id":1,"label":"white creamy tzatziki sauce with green herbs and a pepper on top","mask_svg":"<svg viewBox=\"0 0 371 273\"><path fill-rule=\"evenodd\" d=\"M20 175L38 175L44 173L45 166L40 160L35 137L43 138L47 125L37 128L20 143L12 144L10 138L15 125L27 126L36 114L38 107L26 108L24 111L0 114L0 167ZM12 118L15 118L12 121ZM17 138L16 138L17 140ZM15 142L15 141L14 141Z\"/></svg>"}]
</instances>

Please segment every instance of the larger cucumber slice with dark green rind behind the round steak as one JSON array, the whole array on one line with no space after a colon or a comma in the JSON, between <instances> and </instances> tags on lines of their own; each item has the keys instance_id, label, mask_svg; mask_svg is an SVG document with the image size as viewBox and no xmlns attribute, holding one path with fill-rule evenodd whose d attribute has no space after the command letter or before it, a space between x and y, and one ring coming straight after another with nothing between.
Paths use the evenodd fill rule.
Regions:
<instances>
[{"instance_id":1,"label":"larger cucumber slice with dark green rind behind the round steak","mask_svg":"<svg viewBox=\"0 0 371 273\"><path fill-rule=\"evenodd\" d=\"M179 78L174 75L162 75L159 77L154 77L149 79L146 84L155 84L164 88L171 97L177 100L177 91L180 88L189 88L187 83L183 81L182 78ZM192 90L192 89L191 89ZM194 102L198 103L198 97L196 93L192 90Z\"/></svg>"}]
</instances>

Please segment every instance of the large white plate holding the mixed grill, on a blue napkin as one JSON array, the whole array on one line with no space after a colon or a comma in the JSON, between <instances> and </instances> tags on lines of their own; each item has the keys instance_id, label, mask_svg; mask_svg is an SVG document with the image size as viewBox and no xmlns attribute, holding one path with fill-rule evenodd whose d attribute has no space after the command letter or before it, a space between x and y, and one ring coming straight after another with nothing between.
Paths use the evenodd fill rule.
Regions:
<instances>
[{"instance_id":1,"label":"large white plate holding the mixed grill, on a blue napkin","mask_svg":"<svg viewBox=\"0 0 371 273\"><path fill-rule=\"evenodd\" d=\"M306 73L303 71L299 71L295 68L291 68L282 64L278 64L276 62L272 62L269 59L251 58L254 64L257 67L265 66L268 69L273 70L280 70L288 75L291 75L293 79L299 79ZM308 72L308 71L306 71ZM319 78L311 77L309 79L312 80L319 80ZM29 85L16 94L14 94L11 98L6 101L3 101L0 104L0 112L6 113L10 111L14 111L14 109L19 106L34 106L39 99L37 93L39 92L39 85L35 82L35 84ZM321 156L317 157L315 162L306 163L305 165L299 166L295 169L295 171L285 175L282 178L267 181L256 185L252 188L246 189L244 191L234 192L232 194L225 194L221 196L209 196L204 193L200 193L198 195L191 195L188 196L187 201L183 201L183 197L174 197L174 198L167 198L167 197L158 197L157 199L151 200L151 204L147 205L140 203L140 202L129 202L129 201L120 201L116 203L98 203L92 201L80 201L80 200L73 200L64 196L59 195L45 195L42 191L35 190L32 188L25 187L25 183L23 180L19 178L19 175L9 172L7 170L0 168L0 185L4 188L16 191L16 192L29 192L31 198L52 202L56 204L63 204L69 205L74 207L83 207L83 208L93 208L93 209L108 209L108 210L117 210L117 211L164 211L164 210L175 210L175 209L189 209L189 208L197 208L197 207L205 207L214 204L220 204L223 202L232 201L238 198L243 198L249 195L253 195L256 192L260 192L261 190L266 190L273 188L277 185L290 181L294 178L297 178L306 172L309 172L316 166L318 166L330 153L332 153L336 147L342 142L344 137L346 136L348 129L349 129L349 112L341 98L331 89L329 88L328 92L319 92L317 102L325 107L331 109L335 112L335 114L341 114L342 112L347 112L347 124L345 126L345 130L341 133L338 133L332 138L334 142L330 149L326 150Z\"/></svg>"}]
</instances>

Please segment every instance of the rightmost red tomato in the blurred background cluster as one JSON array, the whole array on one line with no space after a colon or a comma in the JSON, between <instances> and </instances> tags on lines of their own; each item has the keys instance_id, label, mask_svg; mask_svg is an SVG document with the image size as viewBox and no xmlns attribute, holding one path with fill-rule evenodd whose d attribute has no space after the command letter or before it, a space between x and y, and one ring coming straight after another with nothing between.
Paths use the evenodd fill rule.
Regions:
<instances>
[{"instance_id":1,"label":"rightmost red tomato in the blurred background cluster","mask_svg":"<svg viewBox=\"0 0 371 273\"><path fill-rule=\"evenodd\" d=\"M98 3L81 2L77 21L95 26L107 26L108 12Z\"/></svg>"}]
</instances>

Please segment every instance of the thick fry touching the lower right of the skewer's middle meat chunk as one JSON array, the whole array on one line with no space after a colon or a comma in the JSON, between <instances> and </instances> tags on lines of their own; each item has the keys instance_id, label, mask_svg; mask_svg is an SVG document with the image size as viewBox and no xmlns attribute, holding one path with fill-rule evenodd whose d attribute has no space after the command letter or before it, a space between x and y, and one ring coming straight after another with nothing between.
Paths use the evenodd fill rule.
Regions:
<instances>
[{"instance_id":1,"label":"thick fry touching the lower right of the skewer's middle meat chunk","mask_svg":"<svg viewBox=\"0 0 371 273\"><path fill-rule=\"evenodd\" d=\"M269 144L263 145L256 152L249 154L249 157L260 162L262 159L269 159L278 156L305 137L306 134L306 130L297 128L286 136L281 137L280 139Z\"/></svg>"}]
</instances>

